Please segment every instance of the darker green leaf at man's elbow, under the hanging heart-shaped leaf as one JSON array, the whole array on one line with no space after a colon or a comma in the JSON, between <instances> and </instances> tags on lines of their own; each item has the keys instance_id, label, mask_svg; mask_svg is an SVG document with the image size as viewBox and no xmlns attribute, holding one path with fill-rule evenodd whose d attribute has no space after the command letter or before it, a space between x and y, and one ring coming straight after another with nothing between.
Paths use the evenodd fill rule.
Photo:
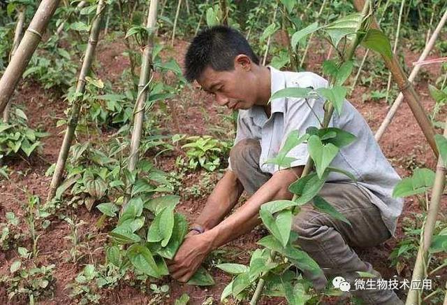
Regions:
<instances>
[{"instance_id":1,"label":"darker green leaf at man's elbow, under the hanging heart-shaped leaf","mask_svg":"<svg viewBox=\"0 0 447 305\"><path fill-rule=\"evenodd\" d=\"M311 201L312 198L320 192L327 177L328 171L325 171L321 178L318 178L318 175L315 172L312 172L292 183L288 187L288 190L299 196L298 199L296 199L296 203L298 206L301 206L307 204L307 202Z\"/></svg>"}]
</instances>

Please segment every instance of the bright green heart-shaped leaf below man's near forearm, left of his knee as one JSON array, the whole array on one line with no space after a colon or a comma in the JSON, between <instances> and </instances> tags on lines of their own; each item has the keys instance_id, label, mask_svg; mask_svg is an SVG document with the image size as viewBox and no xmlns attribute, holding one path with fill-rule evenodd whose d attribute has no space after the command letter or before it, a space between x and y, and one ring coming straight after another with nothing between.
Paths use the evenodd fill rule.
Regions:
<instances>
[{"instance_id":1,"label":"bright green heart-shaped leaf below man's near forearm, left of his knee","mask_svg":"<svg viewBox=\"0 0 447 305\"><path fill-rule=\"evenodd\" d=\"M278 213L276 219L273 217L272 213L265 209L261 209L260 214L265 227L267 227L270 233L272 233L283 246L286 246L291 234L292 211L281 211Z\"/></svg>"}]
</instances>

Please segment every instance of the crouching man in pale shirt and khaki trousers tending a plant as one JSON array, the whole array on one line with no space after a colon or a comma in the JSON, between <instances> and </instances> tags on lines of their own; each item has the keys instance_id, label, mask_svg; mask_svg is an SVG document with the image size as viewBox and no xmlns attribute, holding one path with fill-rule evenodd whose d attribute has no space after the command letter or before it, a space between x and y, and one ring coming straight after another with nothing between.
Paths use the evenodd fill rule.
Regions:
<instances>
[{"instance_id":1,"label":"crouching man in pale shirt and khaki trousers tending a plant","mask_svg":"<svg viewBox=\"0 0 447 305\"><path fill-rule=\"evenodd\" d=\"M222 26L206 29L193 39L185 66L189 81L197 80L203 90L214 95L217 104L238 110L239 115L230 166L169 264L170 274L182 282L193 276L212 250L254 229L261 222L258 212L262 204L293 197L288 186L302 173L309 157L307 144L289 152L288 157L295 158L290 169L279 170L265 161L277 155L293 130L305 134L307 127L319 126L323 100L282 98L268 103L272 94L286 87L328 86L314 73L261 66L245 38ZM353 173L358 181L330 173L319 193L352 227L312 204L303 206L293 219L298 245L324 271L320 276L304 273L318 291L333 276L353 279L356 271L380 276L351 246L374 247L394 236L403 204L391 197L400 177L383 156L362 115L348 101L344 101L342 115L334 113L330 127L356 136L356 141L339 151L331 166ZM249 199L228 215L244 190ZM392 290L356 290L353 294L367 304L403 304Z\"/></svg>"}]
</instances>

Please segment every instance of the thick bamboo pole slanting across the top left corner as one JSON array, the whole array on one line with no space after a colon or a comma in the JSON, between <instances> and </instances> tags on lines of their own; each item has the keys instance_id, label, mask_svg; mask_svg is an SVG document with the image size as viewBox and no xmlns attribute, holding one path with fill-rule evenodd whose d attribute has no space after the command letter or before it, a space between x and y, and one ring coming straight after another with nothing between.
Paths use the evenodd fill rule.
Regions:
<instances>
[{"instance_id":1,"label":"thick bamboo pole slanting across the top left corner","mask_svg":"<svg viewBox=\"0 0 447 305\"><path fill-rule=\"evenodd\" d=\"M43 32L47 28L50 18L59 5L60 0L43 0L37 8L36 14L31 20L19 47L11 58L5 73L0 78L0 113L5 110L8 101L14 93L15 87L22 78L23 71L27 68L29 60L34 54Z\"/></svg>"}]
</instances>

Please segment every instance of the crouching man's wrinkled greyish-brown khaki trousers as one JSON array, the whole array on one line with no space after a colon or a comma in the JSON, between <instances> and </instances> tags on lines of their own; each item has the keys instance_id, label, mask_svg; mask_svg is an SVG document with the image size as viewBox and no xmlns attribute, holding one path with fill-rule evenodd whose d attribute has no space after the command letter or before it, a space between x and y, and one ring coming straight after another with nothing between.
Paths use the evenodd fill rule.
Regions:
<instances>
[{"instance_id":1,"label":"crouching man's wrinkled greyish-brown khaki trousers","mask_svg":"<svg viewBox=\"0 0 447 305\"><path fill-rule=\"evenodd\" d=\"M256 139L239 141L230 152L232 169L249 195L272 176L261 171L260 155L261 146ZM325 183L319 194L342 213L352 227L318 211L312 204L302 206L292 224L293 231L299 235L296 242L324 272L314 276L303 271L303 275L312 281L317 291L325 288L328 278L343 276L351 285L349 292L365 304L404 304L393 290L355 290L356 271L367 271L377 278L381 276L371 264L362 262L351 246L374 247L391 237L369 194L353 183Z\"/></svg>"}]
</instances>

